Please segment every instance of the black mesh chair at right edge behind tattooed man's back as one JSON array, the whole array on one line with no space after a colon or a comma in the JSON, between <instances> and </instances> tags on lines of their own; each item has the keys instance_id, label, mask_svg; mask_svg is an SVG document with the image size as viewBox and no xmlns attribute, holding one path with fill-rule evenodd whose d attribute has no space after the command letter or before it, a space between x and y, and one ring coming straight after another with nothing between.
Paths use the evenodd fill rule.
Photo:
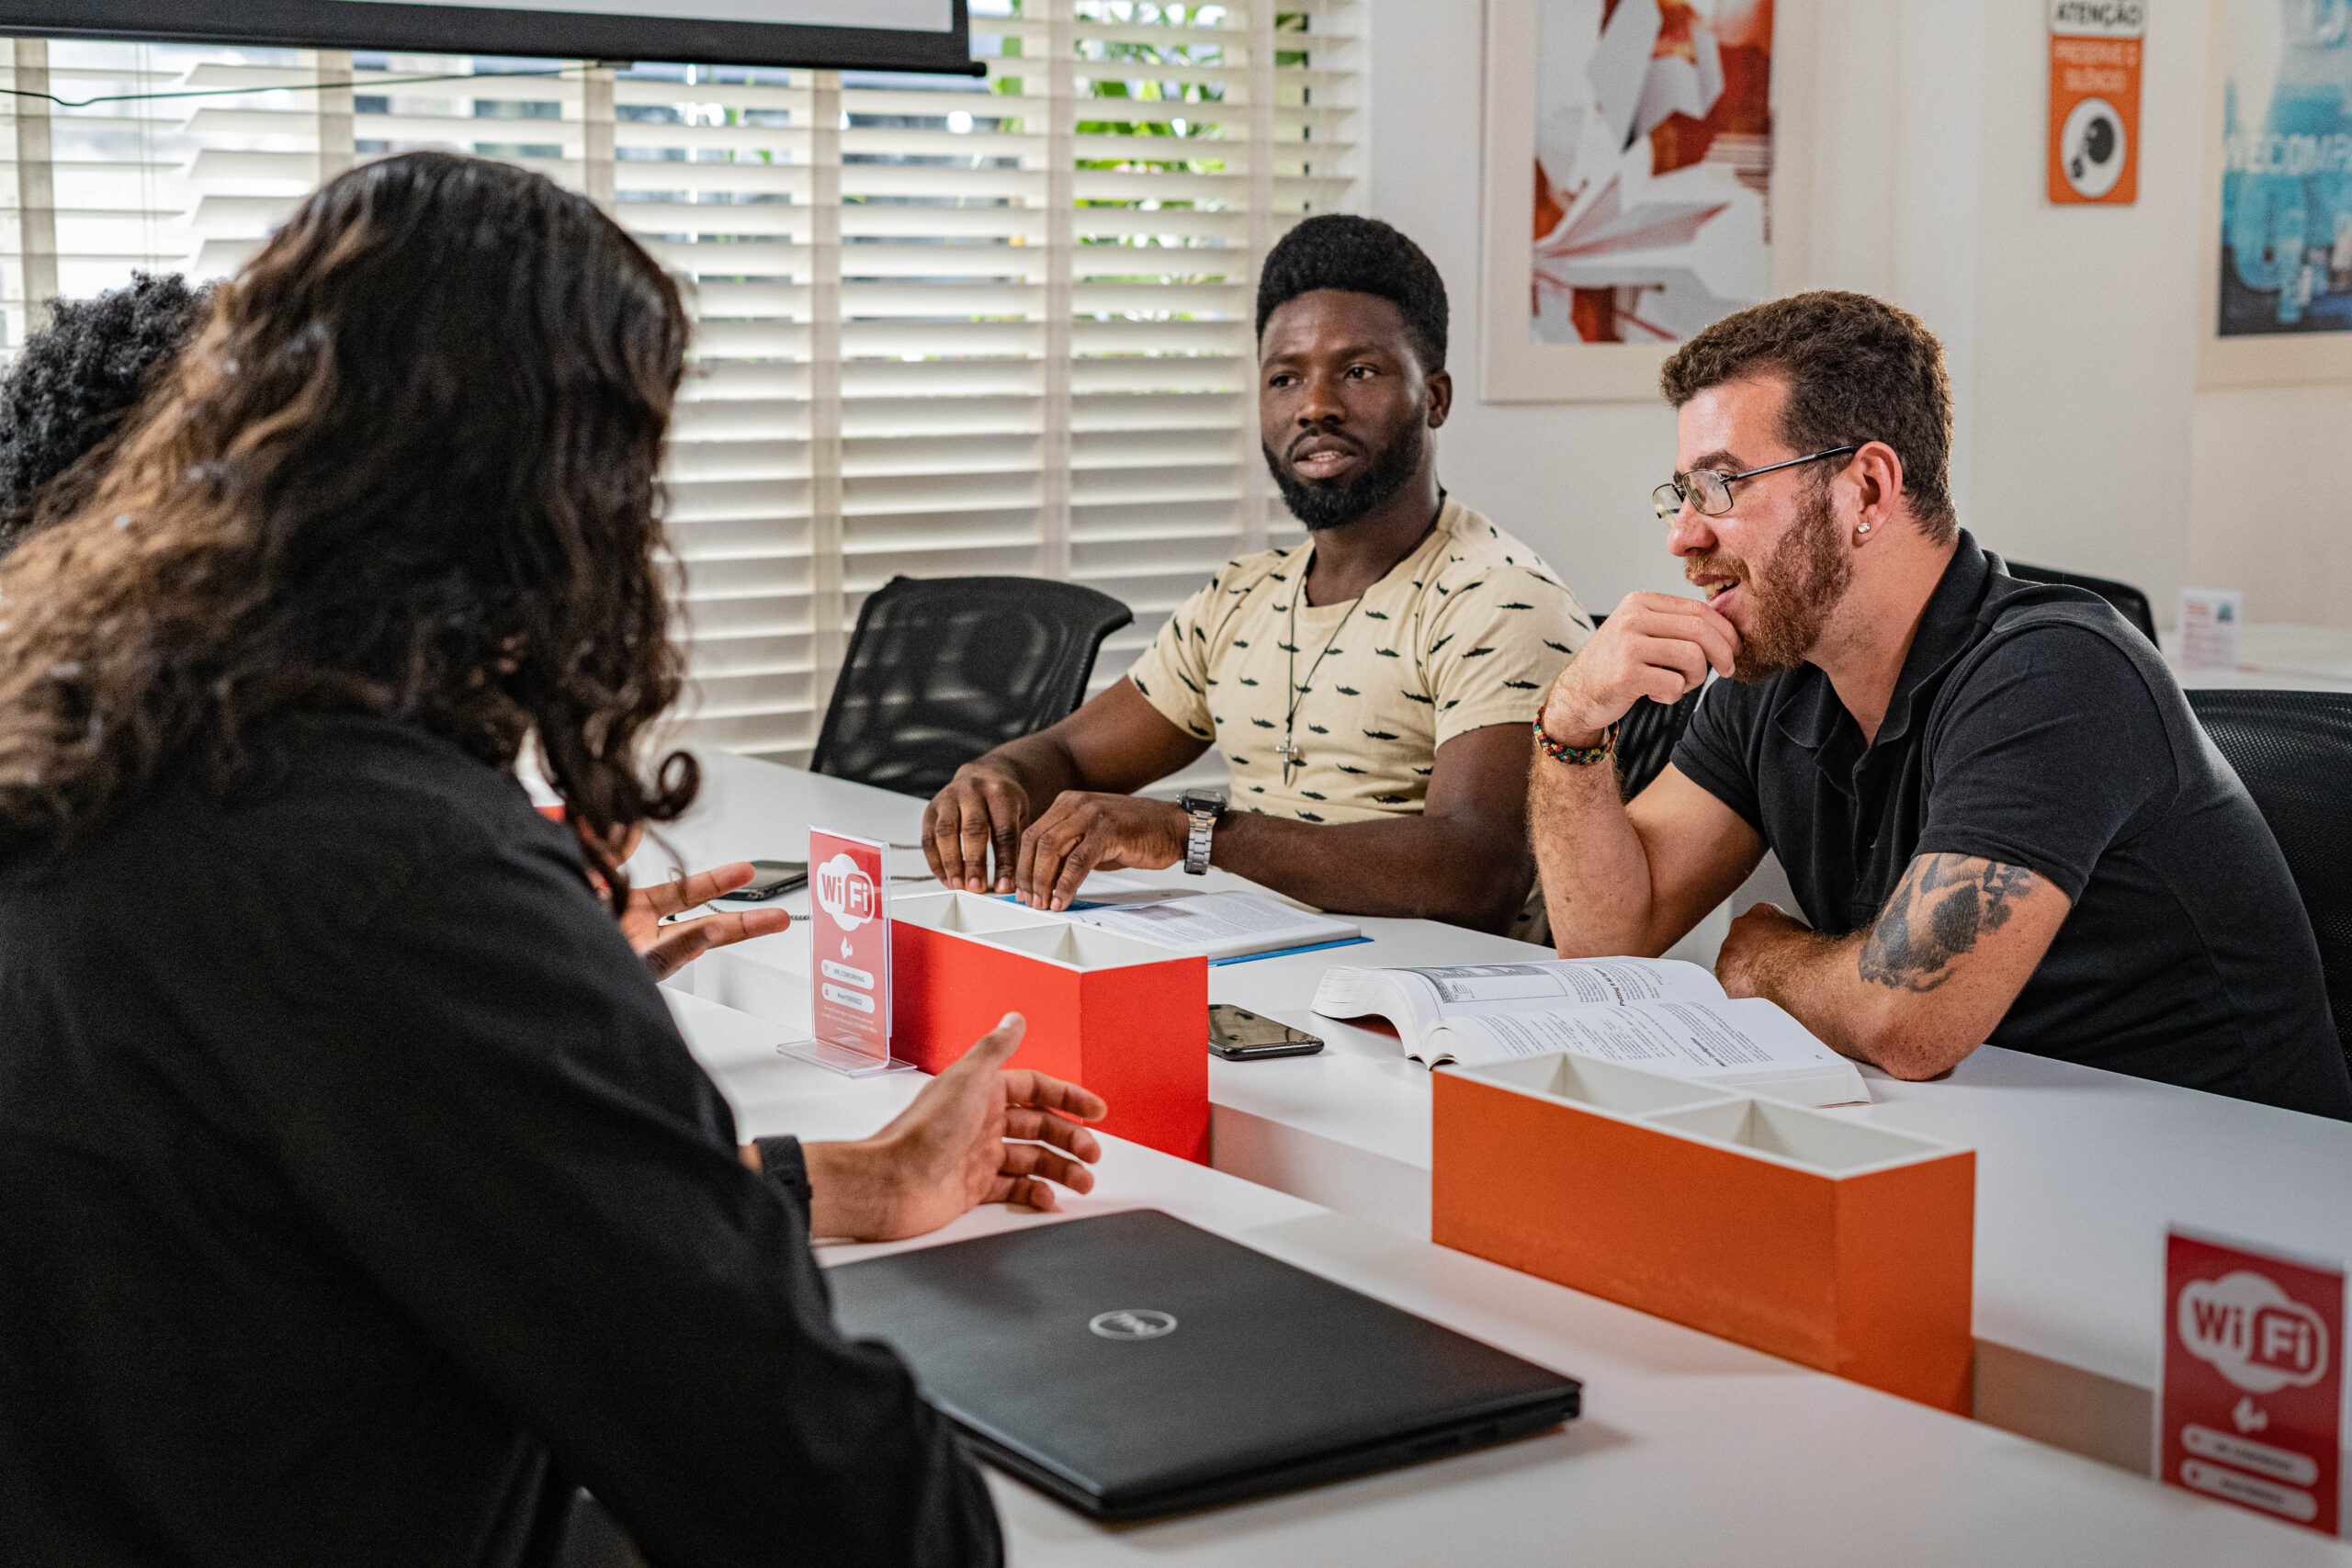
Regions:
<instances>
[{"instance_id":1,"label":"black mesh chair at right edge behind tattooed man's back","mask_svg":"<svg viewBox=\"0 0 2352 1568\"><path fill-rule=\"evenodd\" d=\"M2336 1039L2352 1063L2352 696L2190 691L2190 708L2279 839L2319 936Z\"/></svg>"}]
</instances>

